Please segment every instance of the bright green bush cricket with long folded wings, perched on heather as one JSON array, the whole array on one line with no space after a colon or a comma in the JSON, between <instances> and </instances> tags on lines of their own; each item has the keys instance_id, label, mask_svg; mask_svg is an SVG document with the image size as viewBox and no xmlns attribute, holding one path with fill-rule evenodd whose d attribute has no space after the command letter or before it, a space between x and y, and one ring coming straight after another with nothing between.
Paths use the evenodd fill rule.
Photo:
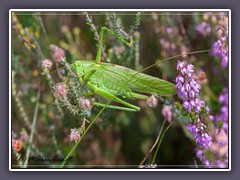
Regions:
<instances>
[{"instance_id":1,"label":"bright green bush cricket with long folded wings, perched on heather","mask_svg":"<svg viewBox=\"0 0 240 180\"><path fill-rule=\"evenodd\" d=\"M120 39L123 43L131 46L131 43L125 41L110 29L102 27L96 59L94 61L78 60L72 64L71 68L78 77L84 80L93 93L111 99L112 101L122 104L124 107L97 102L94 102L93 105L101 107L106 106L107 108L125 111L139 111L140 107L128 103L123 100L123 98L146 100L149 97L145 94L172 96L176 93L174 84L170 82L139 73L123 66L101 62L101 49L105 30Z\"/></svg>"}]
</instances>

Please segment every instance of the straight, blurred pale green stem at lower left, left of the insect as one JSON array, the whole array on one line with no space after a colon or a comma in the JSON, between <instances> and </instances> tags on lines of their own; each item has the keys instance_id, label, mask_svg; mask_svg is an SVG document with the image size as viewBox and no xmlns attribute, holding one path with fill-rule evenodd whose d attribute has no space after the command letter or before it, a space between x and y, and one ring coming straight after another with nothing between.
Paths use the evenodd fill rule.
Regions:
<instances>
[{"instance_id":1,"label":"straight, blurred pale green stem at lower left, left of the insect","mask_svg":"<svg viewBox=\"0 0 240 180\"><path fill-rule=\"evenodd\" d=\"M31 127L31 134L30 134L29 144L28 144L27 153L26 153L26 160L24 162L24 168L27 168L28 158L29 158L29 155L30 155L31 147L32 147L33 134L35 132L35 126L36 126L36 123L37 123L39 99L40 99L40 91L38 91L38 95L37 95L37 102L36 102L36 106L35 106L35 110L34 110L33 122L32 122L32 127Z\"/></svg>"}]
</instances>

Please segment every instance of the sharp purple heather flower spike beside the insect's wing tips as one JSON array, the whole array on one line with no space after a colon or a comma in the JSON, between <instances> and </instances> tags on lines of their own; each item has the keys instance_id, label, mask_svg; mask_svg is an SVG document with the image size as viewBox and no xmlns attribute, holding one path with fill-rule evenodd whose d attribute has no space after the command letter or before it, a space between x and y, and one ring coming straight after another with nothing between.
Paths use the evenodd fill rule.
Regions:
<instances>
[{"instance_id":1,"label":"sharp purple heather flower spike beside the insect's wing tips","mask_svg":"<svg viewBox=\"0 0 240 180\"><path fill-rule=\"evenodd\" d=\"M185 66L183 62L178 61L177 69L180 71L180 74L176 78L176 88L178 89L178 96L183 99L182 107L187 112L195 112L197 118L197 122L189 123L187 129L193 134L195 142L199 147L209 149L212 144L212 138L199 118L205 102L197 98L201 85L193 79L194 66L192 64ZM206 109L207 112L210 111L209 107L206 107Z\"/></svg>"}]
</instances>

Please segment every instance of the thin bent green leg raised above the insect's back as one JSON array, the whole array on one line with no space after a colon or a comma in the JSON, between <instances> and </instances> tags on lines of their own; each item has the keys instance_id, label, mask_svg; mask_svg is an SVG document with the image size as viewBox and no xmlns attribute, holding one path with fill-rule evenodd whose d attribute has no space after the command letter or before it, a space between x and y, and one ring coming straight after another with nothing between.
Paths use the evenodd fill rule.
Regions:
<instances>
[{"instance_id":1,"label":"thin bent green leg raised above the insect's back","mask_svg":"<svg viewBox=\"0 0 240 180\"><path fill-rule=\"evenodd\" d=\"M111 33L114 37L116 37L117 39L119 39L120 41L122 41L124 44L126 44L127 46L131 46L132 45L132 39L130 42L127 42L126 40L124 40L123 38L121 38L120 36L118 36L117 34L115 34L112 30L108 29L107 27L102 27L101 28L101 32L100 32L100 42L99 42L99 46L98 46L98 52L97 52L97 57L96 57L96 63L101 61L101 54L102 54L102 44L103 44L103 35L104 32L108 31L109 33Z\"/></svg>"}]
</instances>

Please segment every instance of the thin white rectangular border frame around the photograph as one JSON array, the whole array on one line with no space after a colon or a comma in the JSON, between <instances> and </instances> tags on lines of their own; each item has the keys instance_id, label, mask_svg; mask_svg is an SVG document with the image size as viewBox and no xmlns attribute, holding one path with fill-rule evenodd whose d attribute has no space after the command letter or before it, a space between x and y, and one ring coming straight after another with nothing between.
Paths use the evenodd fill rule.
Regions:
<instances>
[{"instance_id":1,"label":"thin white rectangular border frame around the photograph","mask_svg":"<svg viewBox=\"0 0 240 180\"><path fill-rule=\"evenodd\" d=\"M227 11L229 13L229 168L228 169L12 169L12 161L11 161L11 132L12 132L12 124L11 124L11 90L12 90L12 18L11 14L12 12L82 12L82 11L88 11L88 12L104 12L104 11L119 11L119 12L136 12L136 11L142 11L142 12L219 12L219 11ZM10 9L9 10L9 171L231 171L231 10L230 9Z\"/></svg>"}]
</instances>

